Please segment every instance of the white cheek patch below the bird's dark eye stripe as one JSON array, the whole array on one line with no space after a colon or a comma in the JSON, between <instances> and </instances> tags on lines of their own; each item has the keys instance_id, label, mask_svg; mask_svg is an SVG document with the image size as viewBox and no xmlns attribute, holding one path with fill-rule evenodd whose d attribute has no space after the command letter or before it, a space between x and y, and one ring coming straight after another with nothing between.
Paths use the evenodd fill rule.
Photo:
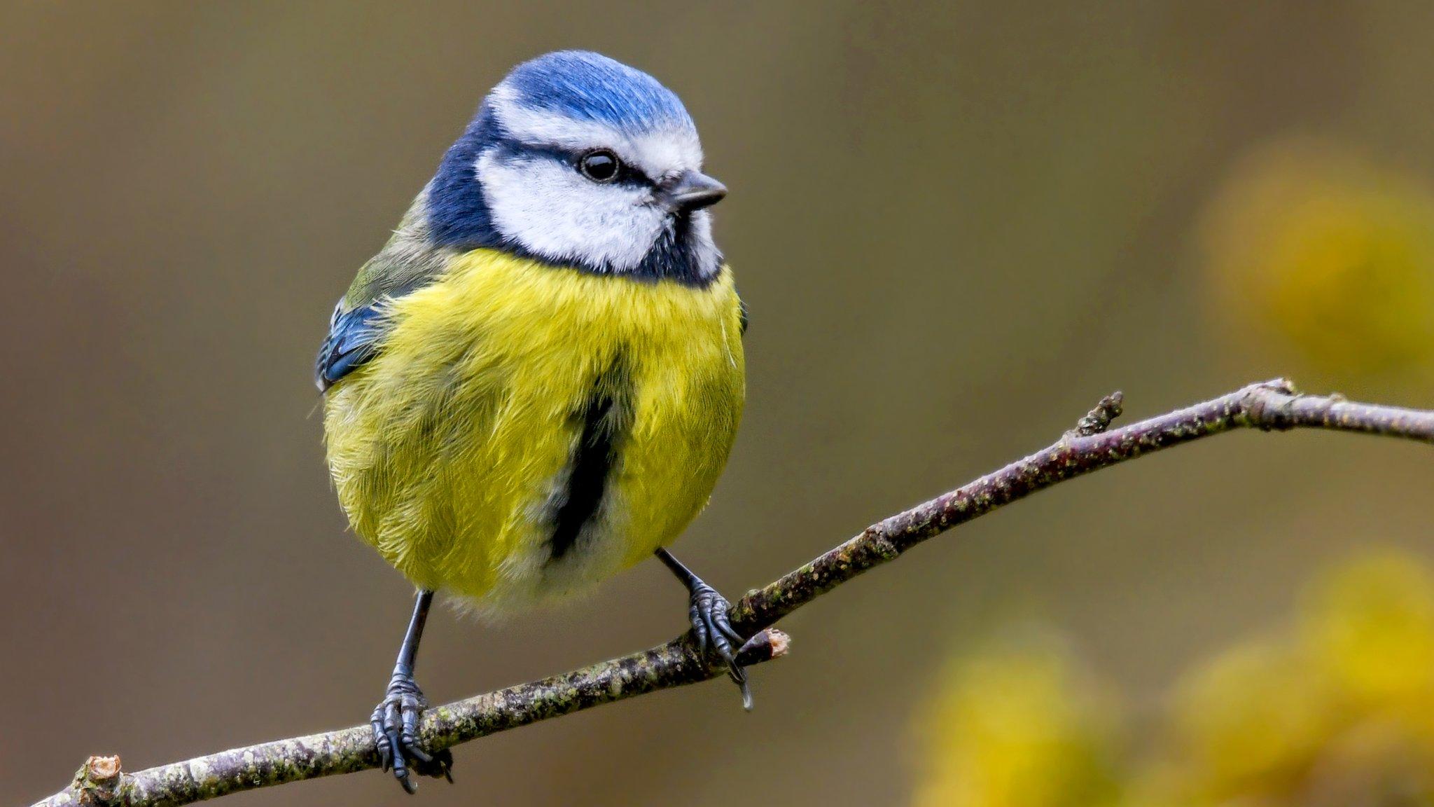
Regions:
<instances>
[{"instance_id":1,"label":"white cheek patch below the bird's dark eye stripe","mask_svg":"<svg viewBox=\"0 0 1434 807\"><path fill-rule=\"evenodd\" d=\"M667 225L651 191L599 185L548 158L478 158L493 225L554 263L632 271Z\"/></svg>"}]
</instances>

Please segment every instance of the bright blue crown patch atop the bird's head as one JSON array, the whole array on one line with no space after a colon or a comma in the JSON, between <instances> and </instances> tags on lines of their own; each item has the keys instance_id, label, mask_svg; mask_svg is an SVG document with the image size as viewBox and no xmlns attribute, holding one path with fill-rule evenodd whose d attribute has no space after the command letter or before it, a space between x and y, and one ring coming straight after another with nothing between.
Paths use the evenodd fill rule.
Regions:
<instances>
[{"instance_id":1,"label":"bright blue crown patch atop the bird's head","mask_svg":"<svg viewBox=\"0 0 1434 807\"><path fill-rule=\"evenodd\" d=\"M695 129L673 90L642 70L589 50L558 50L523 62L503 85L515 90L516 103L574 121L630 132Z\"/></svg>"}]
</instances>

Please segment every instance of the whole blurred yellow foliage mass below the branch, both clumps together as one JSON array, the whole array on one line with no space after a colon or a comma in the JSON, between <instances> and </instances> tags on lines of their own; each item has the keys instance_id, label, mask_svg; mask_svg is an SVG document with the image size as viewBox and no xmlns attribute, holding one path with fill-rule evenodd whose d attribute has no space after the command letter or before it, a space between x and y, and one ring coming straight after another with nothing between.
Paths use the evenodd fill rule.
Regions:
<instances>
[{"instance_id":1,"label":"whole blurred yellow foliage mass below the branch, both clumps together","mask_svg":"<svg viewBox=\"0 0 1434 807\"><path fill-rule=\"evenodd\" d=\"M1434 576L1404 554L1311 586L1296 626L1182 676L1139 754L1055 642L952 662L919 807L1434 806Z\"/></svg>"}]
</instances>

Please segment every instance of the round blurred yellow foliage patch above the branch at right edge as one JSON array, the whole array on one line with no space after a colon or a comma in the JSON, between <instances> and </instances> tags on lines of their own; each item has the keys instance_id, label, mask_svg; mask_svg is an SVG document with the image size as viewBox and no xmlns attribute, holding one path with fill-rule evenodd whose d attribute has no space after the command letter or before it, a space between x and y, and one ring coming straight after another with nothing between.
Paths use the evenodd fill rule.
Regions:
<instances>
[{"instance_id":1,"label":"round blurred yellow foliage patch above the branch at right edge","mask_svg":"<svg viewBox=\"0 0 1434 807\"><path fill-rule=\"evenodd\" d=\"M1239 161L1200 243L1222 329L1338 382L1434 365L1434 195L1339 146ZM1250 345L1253 342L1253 345Z\"/></svg>"}]
</instances>

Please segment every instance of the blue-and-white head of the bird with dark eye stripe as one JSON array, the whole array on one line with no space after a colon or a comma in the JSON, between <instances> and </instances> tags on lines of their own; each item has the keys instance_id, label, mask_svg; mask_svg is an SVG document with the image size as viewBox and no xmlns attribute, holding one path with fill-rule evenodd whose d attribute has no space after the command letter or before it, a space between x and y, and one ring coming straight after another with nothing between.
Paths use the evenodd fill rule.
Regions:
<instances>
[{"instance_id":1,"label":"blue-and-white head of the bird with dark eye stripe","mask_svg":"<svg viewBox=\"0 0 1434 807\"><path fill-rule=\"evenodd\" d=\"M647 73L597 53L513 69L426 192L430 237L605 274L704 283L721 266L697 126Z\"/></svg>"}]
</instances>

